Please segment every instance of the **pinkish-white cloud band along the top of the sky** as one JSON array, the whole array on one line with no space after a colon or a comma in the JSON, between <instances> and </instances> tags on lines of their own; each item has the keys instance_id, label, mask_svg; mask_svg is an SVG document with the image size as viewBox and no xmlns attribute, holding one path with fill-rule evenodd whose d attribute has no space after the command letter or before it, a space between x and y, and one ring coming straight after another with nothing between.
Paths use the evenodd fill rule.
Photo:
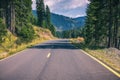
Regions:
<instances>
[{"instance_id":1,"label":"pinkish-white cloud band along the top of the sky","mask_svg":"<svg viewBox=\"0 0 120 80\"><path fill-rule=\"evenodd\" d=\"M63 3L62 3L63 2ZM82 7L89 3L88 0L45 0L45 3L49 5L52 11L54 9L75 9Z\"/></svg>"}]
</instances>

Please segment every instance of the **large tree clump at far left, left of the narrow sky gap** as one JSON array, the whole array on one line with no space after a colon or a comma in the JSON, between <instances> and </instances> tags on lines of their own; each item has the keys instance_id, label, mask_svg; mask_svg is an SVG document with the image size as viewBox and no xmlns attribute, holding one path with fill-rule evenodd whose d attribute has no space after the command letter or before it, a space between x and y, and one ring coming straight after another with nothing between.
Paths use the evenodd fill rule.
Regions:
<instances>
[{"instance_id":1,"label":"large tree clump at far left, left of the narrow sky gap","mask_svg":"<svg viewBox=\"0 0 120 80\"><path fill-rule=\"evenodd\" d=\"M34 30L31 24L31 4L31 0L0 1L1 23L4 24L6 29L11 33L18 36L22 42L31 41L34 38ZM5 33L3 32L3 34Z\"/></svg>"}]
</instances>

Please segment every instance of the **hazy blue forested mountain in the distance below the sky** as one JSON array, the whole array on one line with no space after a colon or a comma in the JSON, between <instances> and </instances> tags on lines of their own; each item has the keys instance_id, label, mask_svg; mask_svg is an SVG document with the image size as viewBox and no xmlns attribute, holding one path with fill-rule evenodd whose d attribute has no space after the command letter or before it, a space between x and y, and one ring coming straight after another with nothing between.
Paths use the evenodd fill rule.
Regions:
<instances>
[{"instance_id":1,"label":"hazy blue forested mountain in the distance below the sky","mask_svg":"<svg viewBox=\"0 0 120 80\"><path fill-rule=\"evenodd\" d=\"M36 11L33 11L33 14L37 16ZM57 31L65 31L83 27L85 24L85 18L85 16L70 18L63 15L51 13L51 22L56 27Z\"/></svg>"}]
</instances>

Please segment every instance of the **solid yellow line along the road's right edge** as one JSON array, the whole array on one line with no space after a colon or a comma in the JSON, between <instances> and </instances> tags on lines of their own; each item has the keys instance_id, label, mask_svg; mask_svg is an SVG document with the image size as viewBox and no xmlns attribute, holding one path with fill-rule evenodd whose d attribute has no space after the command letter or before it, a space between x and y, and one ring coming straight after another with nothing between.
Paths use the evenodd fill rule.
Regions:
<instances>
[{"instance_id":1,"label":"solid yellow line along the road's right edge","mask_svg":"<svg viewBox=\"0 0 120 80\"><path fill-rule=\"evenodd\" d=\"M92 58L93 60L97 61L99 64L101 64L102 66L104 66L106 69L108 69L110 72L112 72L113 74L115 74L117 77L120 78L120 74L118 72L116 72L115 70L113 70L112 68L110 68L109 66L107 66L106 64L104 64L103 62L101 62L100 60L98 60L97 58L93 57L92 55L88 54L87 52L85 52L84 50L81 50L84 54L86 54L87 56L89 56L90 58Z\"/></svg>"}]
</instances>

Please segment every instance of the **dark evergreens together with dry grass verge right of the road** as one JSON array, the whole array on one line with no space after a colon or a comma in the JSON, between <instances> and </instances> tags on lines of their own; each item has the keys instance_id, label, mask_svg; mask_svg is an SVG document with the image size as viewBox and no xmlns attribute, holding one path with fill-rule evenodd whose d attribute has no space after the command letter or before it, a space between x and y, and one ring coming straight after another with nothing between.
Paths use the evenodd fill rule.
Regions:
<instances>
[{"instance_id":1,"label":"dark evergreens together with dry grass verge right of the road","mask_svg":"<svg viewBox=\"0 0 120 80\"><path fill-rule=\"evenodd\" d=\"M81 34L72 43L120 73L120 0L90 0Z\"/></svg>"}]
</instances>

